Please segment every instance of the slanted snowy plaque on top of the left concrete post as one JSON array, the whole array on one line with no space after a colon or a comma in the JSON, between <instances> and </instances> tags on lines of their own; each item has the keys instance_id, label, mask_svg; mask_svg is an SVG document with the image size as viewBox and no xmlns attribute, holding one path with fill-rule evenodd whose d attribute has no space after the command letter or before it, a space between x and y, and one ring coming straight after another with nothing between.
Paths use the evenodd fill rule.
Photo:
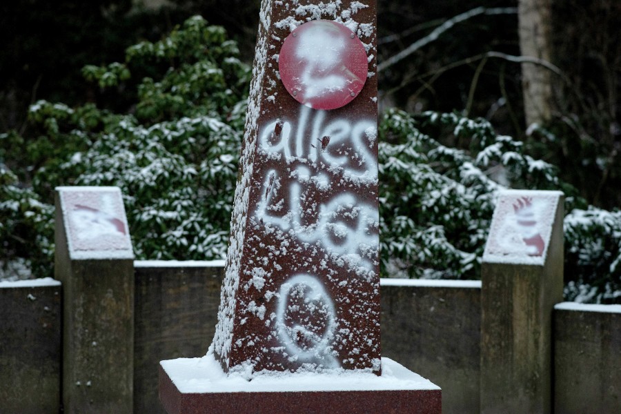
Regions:
<instances>
[{"instance_id":1,"label":"slanted snowy plaque on top of the left concrete post","mask_svg":"<svg viewBox=\"0 0 621 414\"><path fill-rule=\"evenodd\" d=\"M71 259L132 259L118 187L58 187Z\"/></svg>"}]
</instances>

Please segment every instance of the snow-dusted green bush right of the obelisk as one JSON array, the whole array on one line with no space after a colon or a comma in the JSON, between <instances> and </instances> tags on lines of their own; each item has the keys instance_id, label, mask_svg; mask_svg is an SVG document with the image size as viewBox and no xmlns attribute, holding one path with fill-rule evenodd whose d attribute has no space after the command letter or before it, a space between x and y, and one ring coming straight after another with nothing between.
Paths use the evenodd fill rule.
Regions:
<instances>
[{"instance_id":1,"label":"snow-dusted green bush right of the obelisk","mask_svg":"<svg viewBox=\"0 0 621 414\"><path fill-rule=\"evenodd\" d=\"M444 143L451 143L451 146ZM491 124L455 114L390 110L380 123L380 230L384 276L477 279L497 190L563 190L565 294L621 298L621 212L589 207Z\"/></svg>"}]
</instances>

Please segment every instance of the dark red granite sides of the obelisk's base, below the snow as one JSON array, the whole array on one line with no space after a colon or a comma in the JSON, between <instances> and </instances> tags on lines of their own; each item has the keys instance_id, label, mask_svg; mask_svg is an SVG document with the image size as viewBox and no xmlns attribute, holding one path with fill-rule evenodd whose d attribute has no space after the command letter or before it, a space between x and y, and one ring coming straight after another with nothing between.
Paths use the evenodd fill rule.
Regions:
<instances>
[{"instance_id":1,"label":"dark red granite sides of the obelisk's base, below the snow","mask_svg":"<svg viewBox=\"0 0 621 414\"><path fill-rule=\"evenodd\" d=\"M442 391L291 391L184 393L159 367L159 399L168 414L441 414Z\"/></svg>"}]
</instances>

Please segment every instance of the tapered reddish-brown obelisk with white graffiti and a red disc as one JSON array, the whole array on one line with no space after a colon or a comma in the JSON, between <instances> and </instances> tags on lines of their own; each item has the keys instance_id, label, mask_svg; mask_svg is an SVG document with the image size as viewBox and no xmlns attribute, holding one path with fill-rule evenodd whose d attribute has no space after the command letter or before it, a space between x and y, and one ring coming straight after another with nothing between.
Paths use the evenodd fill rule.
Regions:
<instances>
[{"instance_id":1,"label":"tapered reddish-brown obelisk with white graffiti and a red disc","mask_svg":"<svg viewBox=\"0 0 621 414\"><path fill-rule=\"evenodd\" d=\"M210 348L224 371L380 374L375 14L262 2Z\"/></svg>"}]
</instances>

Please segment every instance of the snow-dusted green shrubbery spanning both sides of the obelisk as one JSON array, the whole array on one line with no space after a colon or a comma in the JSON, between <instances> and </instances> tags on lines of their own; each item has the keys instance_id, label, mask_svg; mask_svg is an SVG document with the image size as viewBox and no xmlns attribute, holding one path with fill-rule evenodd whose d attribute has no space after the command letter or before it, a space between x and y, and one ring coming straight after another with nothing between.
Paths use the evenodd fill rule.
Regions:
<instances>
[{"instance_id":1,"label":"snow-dusted green shrubbery spanning both sides of the obelisk","mask_svg":"<svg viewBox=\"0 0 621 414\"><path fill-rule=\"evenodd\" d=\"M38 139L0 135L0 266L50 275L58 185L119 186L138 258L224 257L250 80L235 43L193 17L83 74L108 93L135 88L135 101L126 113L39 101ZM520 141L484 120L398 110L380 138L383 277L477 279L496 191L561 189L566 296L621 301L621 213L585 210Z\"/></svg>"}]
</instances>

